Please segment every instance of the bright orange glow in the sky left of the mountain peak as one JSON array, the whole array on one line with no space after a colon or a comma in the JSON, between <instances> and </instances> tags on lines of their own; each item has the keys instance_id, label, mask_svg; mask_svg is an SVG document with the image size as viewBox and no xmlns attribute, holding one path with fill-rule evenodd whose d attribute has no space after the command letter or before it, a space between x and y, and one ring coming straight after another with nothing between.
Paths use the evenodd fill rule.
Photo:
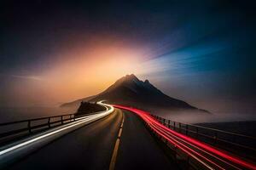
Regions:
<instances>
[{"instance_id":1,"label":"bright orange glow in the sky left of the mountain peak","mask_svg":"<svg viewBox=\"0 0 256 170\"><path fill-rule=\"evenodd\" d=\"M16 96L13 101L20 105L59 105L101 92L119 77L135 71L140 62L138 52L111 45L76 48L58 54L52 65L36 68L32 75L15 76L11 83Z\"/></svg>"}]
</instances>

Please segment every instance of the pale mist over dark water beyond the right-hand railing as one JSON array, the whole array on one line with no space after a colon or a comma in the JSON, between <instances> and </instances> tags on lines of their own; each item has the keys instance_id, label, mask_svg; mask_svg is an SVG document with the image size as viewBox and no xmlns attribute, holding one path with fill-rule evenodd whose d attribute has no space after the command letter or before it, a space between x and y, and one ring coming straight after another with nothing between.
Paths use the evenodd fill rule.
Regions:
<instances>
[{"instance_id":1,"label":"pale mist over dark water beyond the right-hand railing","mask_svg":"<svg viewBox=\"0 0 256 170\"><path fill-rule=\"evenodd\" d=\"M231 133L241 133L256 136L253 129L256 128L256 115L243 113L202 113L196 111L167 111L163 109L150 109L154 115L166 119L189 124L197 124L202 127L212 127Z\"/></svg>"}]
</instances>

